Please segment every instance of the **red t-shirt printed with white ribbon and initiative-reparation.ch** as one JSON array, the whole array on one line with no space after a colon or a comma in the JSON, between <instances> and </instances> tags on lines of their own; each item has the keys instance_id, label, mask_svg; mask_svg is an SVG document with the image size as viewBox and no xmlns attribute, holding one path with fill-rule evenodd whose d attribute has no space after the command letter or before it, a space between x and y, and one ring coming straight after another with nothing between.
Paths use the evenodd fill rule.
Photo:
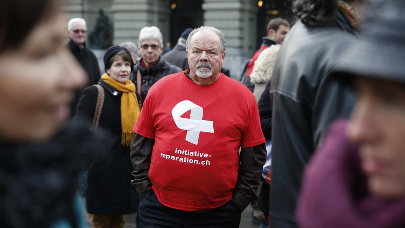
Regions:
<instances>
[{"instance_id":1,"label":"red t-shirt printed with white ribbon and initiative-reparation.ch","mask_svg":"<svg viewBox=\"0 0 405 228\"><path fill-rule=\"evenodd\" d=\"M228 202L240 146L265 142L254 95L222 73L210 86L184 72L163 77L150 88L134 131L155 140L149 178L159 201L183 211Z\"/></svg>"}]
</instances>

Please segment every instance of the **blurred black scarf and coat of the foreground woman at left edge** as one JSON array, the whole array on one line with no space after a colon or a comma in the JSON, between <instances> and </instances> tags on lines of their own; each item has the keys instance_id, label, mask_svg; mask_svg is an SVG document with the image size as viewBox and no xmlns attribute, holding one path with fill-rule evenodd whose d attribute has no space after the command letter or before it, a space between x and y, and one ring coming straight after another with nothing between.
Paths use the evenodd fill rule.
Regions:
<instances>
[{"instance_id":1,"label":"blurred black scarf and coat of the foreground woman at left edge","mask_svg":"<svg viewBox=\"0 0 405 228\"><path fill-rule=\"evenodd\" d=\"M0 227L51 227L77 224L77 176L88 161L105 153L104 138L86 125L60 131L47 142L0 142Z\"/></svg>"}]
</instances>

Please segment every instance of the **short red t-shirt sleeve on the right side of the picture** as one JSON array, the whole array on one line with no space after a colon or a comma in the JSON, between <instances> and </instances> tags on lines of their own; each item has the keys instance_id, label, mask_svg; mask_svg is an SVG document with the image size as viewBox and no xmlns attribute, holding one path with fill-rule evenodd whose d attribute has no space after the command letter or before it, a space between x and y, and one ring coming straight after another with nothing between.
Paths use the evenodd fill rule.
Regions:
<instances>
[{"instance_id":1,"label":"short red t-shirt sleeve on the right side of the picture","mask_svg":"<svg viewBox=\"0 0 405 228\"><path fill-rule=\"evenodd\" d=\"M245 112L245 125L242 129L242 148L257 146L266 142L260 125L259 109L256 99L249 99L247 112Z\"/></svg>"}]
</instances>

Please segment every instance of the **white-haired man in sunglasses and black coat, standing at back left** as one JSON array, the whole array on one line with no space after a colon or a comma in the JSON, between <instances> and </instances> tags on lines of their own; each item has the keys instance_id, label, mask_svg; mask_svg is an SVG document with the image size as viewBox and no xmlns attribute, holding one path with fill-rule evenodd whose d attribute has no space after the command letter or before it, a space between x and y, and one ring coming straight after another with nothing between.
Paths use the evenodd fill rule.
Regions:
<instances>
[{"instance_id":1,"label":"white-haired man in sunglasses and black coat, standing at back left","mask_svg":"<svg viewBox=\"0 0 405 228\"><path fill-rule=\"evenodd\" d=\"M85 69L88 75L88 84L91 86L97 84L100 80L100 69L96 56L85 45L87 34L86 22L83 18L72 18L68 23L68 36L70 38L67 47L72 51L77 61ZM81 96L81 90L75 92L75 99L71 103L70 116L75 116L76 106Z\"/></svg>"}]
</instances>

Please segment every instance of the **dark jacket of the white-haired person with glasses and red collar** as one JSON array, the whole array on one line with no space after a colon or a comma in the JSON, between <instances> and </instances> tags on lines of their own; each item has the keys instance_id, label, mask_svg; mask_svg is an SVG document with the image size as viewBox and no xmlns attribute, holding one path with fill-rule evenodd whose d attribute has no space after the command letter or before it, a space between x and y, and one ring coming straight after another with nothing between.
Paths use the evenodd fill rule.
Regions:
<instances>
[{"instance_id":1,"label":"dark jacket of the white-haired person with glasses and red collar","mask_svg":"<svg viewBox=\"0 0 405 228\"><path fill-rule=\"evenodd\" d=\"M139 70L142 75L142 94L141 94L141 104L145 100L145 97L149 89L162 77L177 73L182 71L180 67L170 64L164 58L160 57L158 63L153 67L143 68L141 66L142 59L134 66L134 70L131 72L130 80L135 84L135 89L137 89L136 72Z\"/></svg>"}]
</instances>

